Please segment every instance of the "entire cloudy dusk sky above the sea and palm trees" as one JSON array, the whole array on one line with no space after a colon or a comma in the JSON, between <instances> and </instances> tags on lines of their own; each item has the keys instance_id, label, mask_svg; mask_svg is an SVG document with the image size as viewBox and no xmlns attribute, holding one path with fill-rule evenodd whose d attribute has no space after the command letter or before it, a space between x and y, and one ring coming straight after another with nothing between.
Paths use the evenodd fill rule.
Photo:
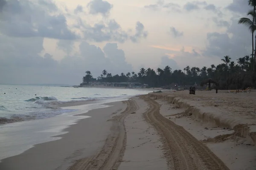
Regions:
<instances>
[{"instance_id":1,"label":"entire cloudy dusk sky above the sea and palm trees","mask_svg":"<svg viewBox=\"0 0 256 170\"><path fill-rule=\"evenodd\" d=\"M0 84L69 84L85 71L218 65L250 55L247 0L0 0Z\"/></svg>"}]
</instances>

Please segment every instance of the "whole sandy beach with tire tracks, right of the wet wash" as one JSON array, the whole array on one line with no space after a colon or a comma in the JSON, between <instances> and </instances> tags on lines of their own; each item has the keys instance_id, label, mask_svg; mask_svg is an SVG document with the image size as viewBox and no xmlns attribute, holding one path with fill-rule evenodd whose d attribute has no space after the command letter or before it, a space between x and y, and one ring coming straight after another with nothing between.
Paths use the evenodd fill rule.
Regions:
<instances>
[{"instance_id":1,"label":"whole sandy beach with tire tracks, right of the wet wash","mask_svg":"<svg viewBox=\"0 0 256 170\"><path fill-rule=\"evenodd\" d=\"M254 93L178 91L108 103L0 169L255 170Z\"/></svg>"}]
</instances>

